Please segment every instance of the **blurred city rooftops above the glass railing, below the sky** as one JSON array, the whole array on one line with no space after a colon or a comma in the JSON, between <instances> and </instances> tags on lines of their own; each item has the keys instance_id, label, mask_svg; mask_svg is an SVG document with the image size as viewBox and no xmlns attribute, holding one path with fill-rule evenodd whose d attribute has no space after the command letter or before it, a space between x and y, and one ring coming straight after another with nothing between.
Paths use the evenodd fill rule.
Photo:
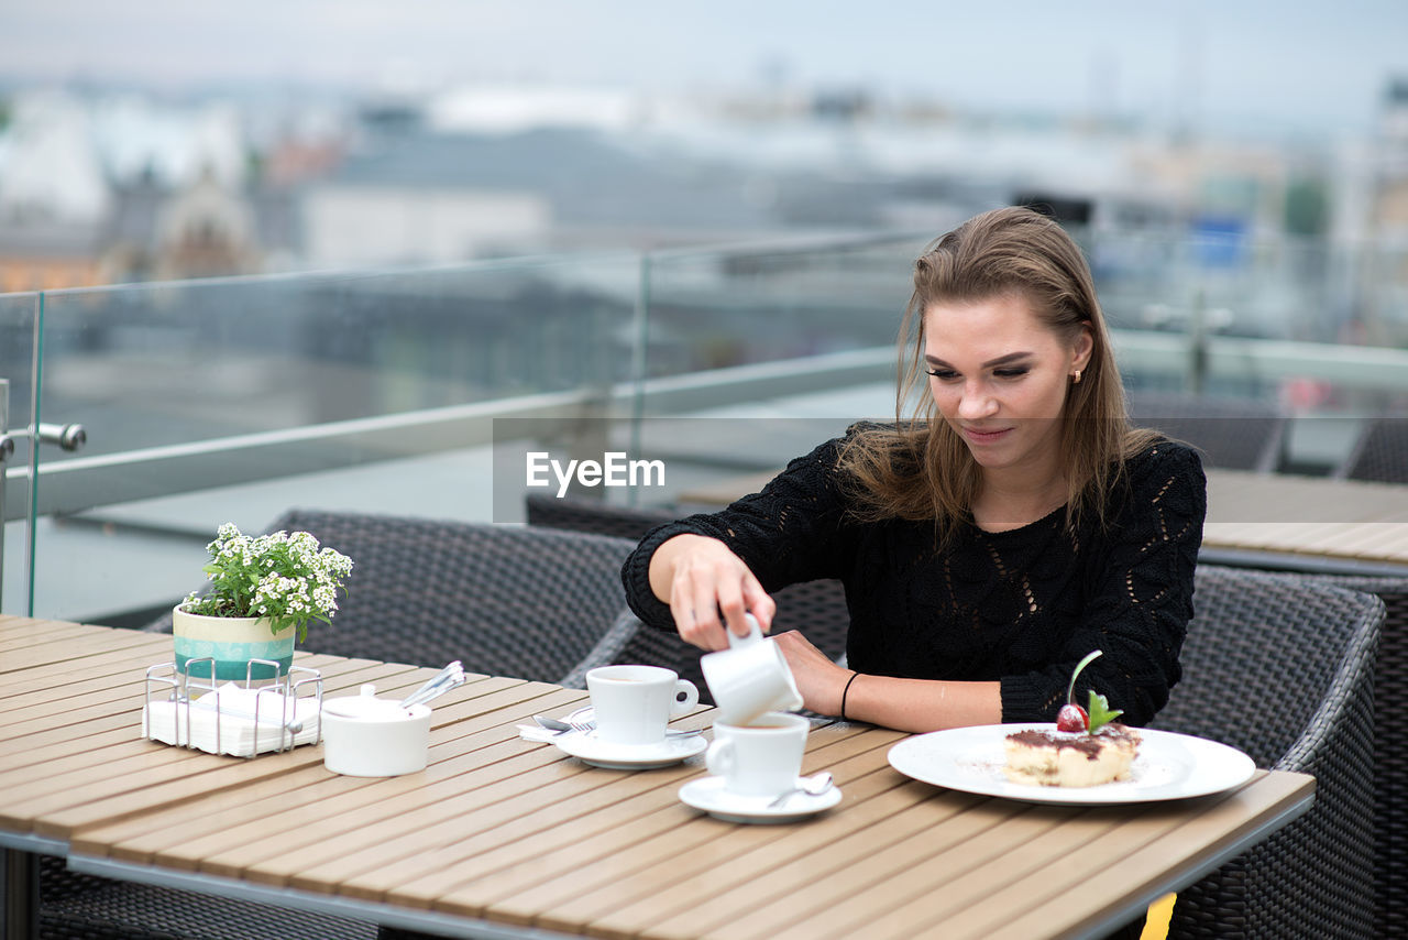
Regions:
<instances>
[{"instance_id":1,"label":"blurred city rooftops above the glass railing, below the sky","mask_svg":"<svg viewBox=\"0 0 1408 940\"><path fill-rule=\"evenodd\" d=\"M1111 292L1166 262L1149 245L1187 242L1198 278L1257 272L1259 299L1214 310L1212 328L1401 345L1408 78L1387 78L1376 109L1369 132L1308 140L781 82L220 99L13 83L0 89L0 292L932 235L1038 200L1088 233ZM1281 309L1307 297L1311 310ZM1159 303L1118 316L1177 320Z\"/></svg>"}]
</instances>

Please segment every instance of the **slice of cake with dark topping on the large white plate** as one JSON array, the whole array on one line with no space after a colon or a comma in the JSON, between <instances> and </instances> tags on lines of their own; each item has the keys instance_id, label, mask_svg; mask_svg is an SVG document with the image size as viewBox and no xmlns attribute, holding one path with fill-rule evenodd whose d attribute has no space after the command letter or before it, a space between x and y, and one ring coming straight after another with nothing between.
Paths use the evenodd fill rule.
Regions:
<instances>
[{"instance_id":1,"label":"slice of cake with dark topping on the large white plate","mask_svg":"<svg viewBox=\"0 0 1408 940\"><path fill-rule=\"evenodd\" d=\"M1014 784L1098 786L1126 779L1139 753L1139 731L1107 724L1088 731L1026 730L1008 734L1002 772Z\"/></svg>"}]
</instances>

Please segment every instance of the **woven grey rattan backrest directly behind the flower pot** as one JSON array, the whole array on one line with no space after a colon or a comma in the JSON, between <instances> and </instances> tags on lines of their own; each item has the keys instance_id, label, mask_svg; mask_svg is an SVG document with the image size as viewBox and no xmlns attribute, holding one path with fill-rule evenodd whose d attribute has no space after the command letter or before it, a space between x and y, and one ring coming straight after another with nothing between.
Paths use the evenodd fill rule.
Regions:
<instances>
[{"instance_id":1,"label":"woven grey rattan backrest directly behind the flower pot","mask_svg":"<svg viewBox=\"0 0 1408 940\"><path fill-rule=\"evenodd\" d=\"M521 526L293 510L269 531L308 531L352 558L331 626L308 653L562 682L625 609L620 538ZM156 629L169 630L166 617Z\"/></svg>"}]
</instances>

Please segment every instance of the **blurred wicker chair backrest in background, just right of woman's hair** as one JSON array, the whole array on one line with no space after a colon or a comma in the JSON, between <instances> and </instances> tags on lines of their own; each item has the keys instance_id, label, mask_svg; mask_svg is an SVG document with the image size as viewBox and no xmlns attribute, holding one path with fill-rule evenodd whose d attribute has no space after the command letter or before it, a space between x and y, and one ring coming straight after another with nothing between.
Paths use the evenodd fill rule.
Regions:
<instances>
[{"instance_id":1,"label":"blurred wicker chair backrest in background, just right of woman's hair","mask_svg":"<svg viewBox=\"0 0 1408 940\"><path fill-rule=\"evenodd\" d=\"M1208 466L1269 474L1284 455L1287 414L1250 399L1131 392L1129 417L1198 448Z\"/></svg>"}]
</instances>

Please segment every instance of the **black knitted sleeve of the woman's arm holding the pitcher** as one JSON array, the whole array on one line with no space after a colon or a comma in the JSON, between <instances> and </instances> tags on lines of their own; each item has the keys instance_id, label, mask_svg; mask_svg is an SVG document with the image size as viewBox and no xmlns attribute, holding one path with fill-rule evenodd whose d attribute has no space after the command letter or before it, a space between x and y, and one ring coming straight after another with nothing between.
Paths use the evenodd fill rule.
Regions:
<instances>
[{"instance_id":1,"label":"black knitted sleeve of the woman's arm holding the pitcher","mask_svg":"<svg viewBox=\"0 0 1408 940\"><path fill-rule=\"evenodd\" d=\"M683 533L724 541L773 592L800 581L835 578L843 551L839 538L845 502L836 481L841 441L832 440L791 461L759 493L718 513L659 526L641 540L621 568L627 600L642 621L673 630L670 607L650 590L650 557Z\"/></svg>"}]
</instances>

